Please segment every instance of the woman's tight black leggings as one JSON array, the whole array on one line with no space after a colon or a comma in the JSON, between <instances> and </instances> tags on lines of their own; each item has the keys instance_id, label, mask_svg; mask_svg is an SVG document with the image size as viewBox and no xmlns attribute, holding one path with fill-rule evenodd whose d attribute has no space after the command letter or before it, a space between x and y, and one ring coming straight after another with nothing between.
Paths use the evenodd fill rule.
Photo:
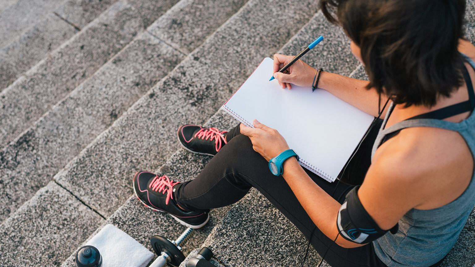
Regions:
<instances>
[{"instance_id":1,"label":"woman's tight black leggings","mask_svg":"<svg viewBox=\"0 0 475 267\"><path fill-rule=\"evenodd\" d=\"M304 169L305 172L335 200L343 203L346 194L356 184L361 184L370 166L371 146L378 130L376 125L361 143L360 150L339 176L342 178L339 183L325 181L307 169ZM316 228L285 180L269 171L268 162L253 150L250 139L240 134L239 125L229 131L227 140L228 144L221 148L198 177L177 185L174 198L180 207L185 210L224 207L236 203L255 187L295 224L305 238L310 239L313 232L312 245L320 255L323 256L331 246L324 258L331 266L386 267L376 256L371 243L359 248L331 245L333 240ZM348 173L352 173L351 179Z\"/></svg>"}]
</instances>

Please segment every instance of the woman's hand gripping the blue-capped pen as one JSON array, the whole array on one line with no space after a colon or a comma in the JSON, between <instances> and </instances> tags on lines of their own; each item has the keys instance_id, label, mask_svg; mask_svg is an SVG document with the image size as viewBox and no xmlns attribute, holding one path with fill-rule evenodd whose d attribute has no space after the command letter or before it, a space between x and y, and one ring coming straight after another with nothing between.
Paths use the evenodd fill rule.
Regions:
<instances>
[{"instance_id":1,"label":"woman's hand gripping the blue-capped pen","mask_svg":"<svg viewBox=\"0 0 475 267\"><path fill-rule=\"evenodd\" d=\"M285 87L292 89L292 85L296 86L313 86L313 80L316 70L308 66L304 61L297 60L294 64L288 67L285 72L278 72L282 67L287 65L294 56L285 56L281 54L274 55L274 78L277 79L282 89Z\"/></svg>"}]
</instances>

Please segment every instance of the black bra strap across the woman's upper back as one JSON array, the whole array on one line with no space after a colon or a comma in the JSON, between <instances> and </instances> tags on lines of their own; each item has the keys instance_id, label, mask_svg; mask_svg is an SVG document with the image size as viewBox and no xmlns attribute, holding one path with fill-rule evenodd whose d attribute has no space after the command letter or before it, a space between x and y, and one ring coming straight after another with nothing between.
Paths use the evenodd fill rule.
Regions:
<instances>
[{"instance_id":1,"label":"black bra strap across the woman's upper back","mask_svg":"<svg viewBox=\"0 0 475 267\"><path fill-rule=\"evenodd\" d=\"M472 66L471 64L470 64L470 66L475 70L474 66ZM464 75L465 83L467 85L467 90L468 90L468 100L467 101L457 103L457 104L454 104L454 105L449 105L449 106L446 106L446 107L443 107L443 108L440 108L440 109L437 109L437 110L434 110L434 111L431 111L431 112L428 112L428 113L420 114L420 115L411 117L407 120L415 120L415 119L443 120L443 119L446 119L448 117L452 117L452 116L462 114L462 113L465 113L465 112L473 112L473 110L475 109L475 92L474 92L474 88L472 86L472 79L470 79L470 75L468 74L468 70L465 67L462 69L462 74ZM388 114L388 115L390 115L390 114ZM403 129L400 129L400 130L394 131L392 133L386 134L383 137L383 139L381 140L380 145L383 144L384 142L388 141L392 137L396 136L397 134L399 134L399 132L401 130L403 130Z\"/></svg>"}]
</instances>

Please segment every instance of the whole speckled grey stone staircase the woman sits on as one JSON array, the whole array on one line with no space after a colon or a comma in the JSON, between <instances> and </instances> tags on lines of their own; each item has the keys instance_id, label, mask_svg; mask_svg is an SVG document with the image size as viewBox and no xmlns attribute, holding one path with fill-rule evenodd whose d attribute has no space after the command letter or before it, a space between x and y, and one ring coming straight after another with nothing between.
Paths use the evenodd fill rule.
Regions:
<instances>
[{"instance_id":1,"label":"whole speckled grey stone staircase the woman sits on","mask_svg":"<svg viewBox=\"0 0 475 267\"><path fill-rule=\"evenodd\" d=\"M470 0L472 42L474 14ZM151 250L175 238L185 228L139 203L133 174L195 177L210 157L176 129L235 126L219 106L262 58L323 35L305 62L366 77L313 0L5 0L0 33L0 266L74 266L107 223ZM307 241L259 192L210 214L185 255L204 243L225 266L301 264ZM443 266L475 259L474 229L472 214Z\"/></svg>"}]
</instances>

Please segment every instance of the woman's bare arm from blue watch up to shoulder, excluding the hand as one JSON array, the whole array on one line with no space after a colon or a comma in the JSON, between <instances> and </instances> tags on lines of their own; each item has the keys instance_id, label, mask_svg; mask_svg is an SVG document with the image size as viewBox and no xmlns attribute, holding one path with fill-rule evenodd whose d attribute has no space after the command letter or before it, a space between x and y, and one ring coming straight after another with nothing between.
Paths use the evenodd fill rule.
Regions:
<instances>
[{"instance_id":1,"label":"woman's bare arm from blue watch up to shoulder, excluding the hand","mask_svg":"<svg viewBox=\"0 0 475 267\"><path fill-rule=\"evenodd\" d=\"M410 185L399 181L394 173L392 170L388 172L373 167L367 174L367 177L371 178L365 178L358 191L361 204L380 229L388 230L394 227L414 206L415 199L411 197L411 190L408 190ZM282 176L318 229L334 240L339 235L336 221L342 205L312 181L295 157L284 162ZM385 179L380 179L381 177ZM364 245L342 238L341 235L335 242L343 248Z\"/></svg>"}]
</instances>

